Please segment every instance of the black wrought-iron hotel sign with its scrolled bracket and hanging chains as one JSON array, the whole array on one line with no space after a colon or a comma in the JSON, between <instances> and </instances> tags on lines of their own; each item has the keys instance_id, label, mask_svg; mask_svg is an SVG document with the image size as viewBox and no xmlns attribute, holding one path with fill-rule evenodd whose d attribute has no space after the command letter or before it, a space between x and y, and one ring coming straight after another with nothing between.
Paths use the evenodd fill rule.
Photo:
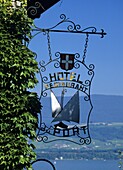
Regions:
<instances>
[{"instance_id":1,"label":"black wrought-iron hotel sign with its scrolled bracket and hanging chains","mask_svg":"<svg viewBox=\"0 0 123 170\"><path fill-rule=\"evenodd\" d=\"M81 30L65 15L61 21L49 29L35 27L33 31L44 33L48 40L49 61L40 62L41 94L43 105L40 114L37 140L53 142L67 140L83 145L90 144L89 131L90 114L93 109L91 101L91 84L94 77L94 65L85 62L89 35L106 35L102 29L97 32L95 27ZM66 30L57 30L58 26L67 24ZM77 33L85 34L83 54L78 52L51 53L50 33ZM69 49L68 49L69 51Z\"/></svg>"}]
</instances>

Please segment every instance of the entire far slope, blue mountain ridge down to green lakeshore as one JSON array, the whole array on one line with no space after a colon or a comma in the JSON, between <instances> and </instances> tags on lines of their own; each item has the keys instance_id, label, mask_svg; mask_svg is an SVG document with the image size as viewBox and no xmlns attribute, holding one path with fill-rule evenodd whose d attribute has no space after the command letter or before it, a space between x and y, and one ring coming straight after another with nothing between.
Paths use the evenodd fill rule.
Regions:
<instances>
[{"instance_id":1,"label":"entire far slope, blue mountain ridge down to green lakeshore","mask_svg":"<svg viewBox=\"0 0 123 170\"><path fill-rule=\"evenodd\" d=\"M90 117L91 144L80 146L65 141L49 144L35 142L38 158L119 159L119 151L123 151L123 96L92 95L91 99L94 107ZM47 106L48 102L50 98L44 98L42 105ZM49 107L45 112L51 112Z\"/></svg>"}]
</instances>

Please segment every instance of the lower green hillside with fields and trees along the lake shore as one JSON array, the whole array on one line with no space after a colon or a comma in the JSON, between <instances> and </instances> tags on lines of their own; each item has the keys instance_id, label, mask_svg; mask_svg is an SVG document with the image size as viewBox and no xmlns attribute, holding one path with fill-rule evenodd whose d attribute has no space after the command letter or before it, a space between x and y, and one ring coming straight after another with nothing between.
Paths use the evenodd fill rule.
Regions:
<instances>
[{"instance_id":1,"label":"lower green hillside with fields and trees along the lake shore","mask_svg":"<svg viewBox=\"0 0 123 170\"><path fill-rule=\"evenodd\" d=\"M119 159L123 151L123 123L96 123L90 128L92 142L90 145L76 145L66 141L49 144L36 142L38 158L47 159Z\"/></svg>"}]
</instances>

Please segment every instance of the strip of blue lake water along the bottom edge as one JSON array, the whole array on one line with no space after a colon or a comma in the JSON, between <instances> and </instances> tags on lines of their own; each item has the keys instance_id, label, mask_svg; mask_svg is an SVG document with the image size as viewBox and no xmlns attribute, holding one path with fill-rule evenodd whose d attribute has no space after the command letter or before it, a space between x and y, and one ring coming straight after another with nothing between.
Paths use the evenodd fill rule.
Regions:
<instances>
[{"instance_id":1,"label":"strip of blue lake water along the bottom edge","mask_svg":"<svg viewBox=\"0 0 123 170\"><path fill-rule=\"evenodd\" d=\"M51 161L56 170L119 170L118 161L98 160L57 160ZM34 170L52 170L46 162L37 162L33 165Z\"/></svg>"}]
</instances>

